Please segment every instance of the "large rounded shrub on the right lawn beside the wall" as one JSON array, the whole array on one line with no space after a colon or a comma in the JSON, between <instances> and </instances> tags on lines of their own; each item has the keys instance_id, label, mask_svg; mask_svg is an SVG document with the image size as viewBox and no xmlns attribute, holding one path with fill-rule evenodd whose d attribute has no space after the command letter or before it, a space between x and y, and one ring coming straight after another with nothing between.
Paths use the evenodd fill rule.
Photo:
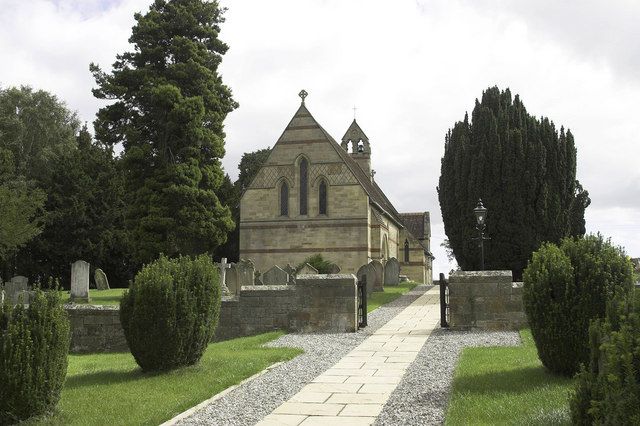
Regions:
<instances>
[{"instance_id":1,"label":"large rounded shrub on the right lawn beside the wall","mask_svg":"<svg viewBox=\"0 0 640 426\"><path fill-rule=\"evenodd\" d=\"M573 376L589 360L589 323L617 289L633 287L624 251L601 235L544 244L524 272L523 302L542 364Z\"/></svg>"}]
</instances>

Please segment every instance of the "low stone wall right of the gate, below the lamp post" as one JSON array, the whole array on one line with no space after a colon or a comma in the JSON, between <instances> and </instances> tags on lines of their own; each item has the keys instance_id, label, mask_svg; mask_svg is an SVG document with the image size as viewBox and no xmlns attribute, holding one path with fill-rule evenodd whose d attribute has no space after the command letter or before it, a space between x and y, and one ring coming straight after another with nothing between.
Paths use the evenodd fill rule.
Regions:
<instances>
[{"instance_id":1,"label":"low stone wall right of the gate, below the lamp post","mask_svg":"<svg viewBox=\"0 0 640 426\"><path fill-rule=\"evenodd\" d=\"M511 271L456 271L449 276L449 325L452 328L517 330L527 317L522 283Z\"/></svg>"}]
</instances>

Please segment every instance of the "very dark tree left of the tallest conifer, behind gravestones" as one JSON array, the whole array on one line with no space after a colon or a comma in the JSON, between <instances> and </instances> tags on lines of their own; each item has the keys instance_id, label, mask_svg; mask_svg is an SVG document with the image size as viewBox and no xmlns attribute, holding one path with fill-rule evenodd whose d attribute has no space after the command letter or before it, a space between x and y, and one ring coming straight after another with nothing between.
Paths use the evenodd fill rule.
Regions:
<instances>
[{"instance_id":1,"label":"very dark tree left of the tallest conifer, behind gravestones","mask_svg":"<svg viewBox=\"0 0 640 426\"><path fill-rule=\"evenodd\" d=\"M32 277L69 282L69 264L86 260L115 285L131 278L123 221L123 179L110 148L91 139L86 125L76 146L50 166L40 185L47 192L44 230L18 256Z\"/></svg>"}]
</instances>

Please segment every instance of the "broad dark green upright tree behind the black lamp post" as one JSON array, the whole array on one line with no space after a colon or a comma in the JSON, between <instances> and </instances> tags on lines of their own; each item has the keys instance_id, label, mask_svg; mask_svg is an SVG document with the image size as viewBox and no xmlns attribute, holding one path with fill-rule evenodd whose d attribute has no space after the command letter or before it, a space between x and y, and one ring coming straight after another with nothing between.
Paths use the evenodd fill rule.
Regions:
<instances>
[{"instance_id":1,"label":"broad dark green upright tree behind the black lamp post","mask_svg":"<svg viewBox=\"0 0 640 426\"><path fill-rule=\"evenodd\" d=\"M487 89L445 137L438 197L455 258L463 270L478 269L472 210L482 198L489 209L487 269L522 276L542 242L584 234L589 194L576 180L571 131L537 119L509 89Z\"/></svg>"}]
</instances>

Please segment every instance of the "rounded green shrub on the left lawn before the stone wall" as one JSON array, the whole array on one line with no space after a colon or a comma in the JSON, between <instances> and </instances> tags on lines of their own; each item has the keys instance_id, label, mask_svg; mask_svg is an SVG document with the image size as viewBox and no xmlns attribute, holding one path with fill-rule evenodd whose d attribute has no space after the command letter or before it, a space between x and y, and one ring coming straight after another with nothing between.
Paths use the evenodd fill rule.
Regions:
<instances>
[{"instance_id":1,"label":"rounded green shrub on the left lawn before the stone wall","mask_svg":"<svg viewBox=\"0 0 640 426\"><path fill-rule=\"evenodd\" d=\"M161 256L145 265L120 301L129 349L145 371L197 363L220 315L220 279L211 259Z\"/></svg>"}]
</instances>

